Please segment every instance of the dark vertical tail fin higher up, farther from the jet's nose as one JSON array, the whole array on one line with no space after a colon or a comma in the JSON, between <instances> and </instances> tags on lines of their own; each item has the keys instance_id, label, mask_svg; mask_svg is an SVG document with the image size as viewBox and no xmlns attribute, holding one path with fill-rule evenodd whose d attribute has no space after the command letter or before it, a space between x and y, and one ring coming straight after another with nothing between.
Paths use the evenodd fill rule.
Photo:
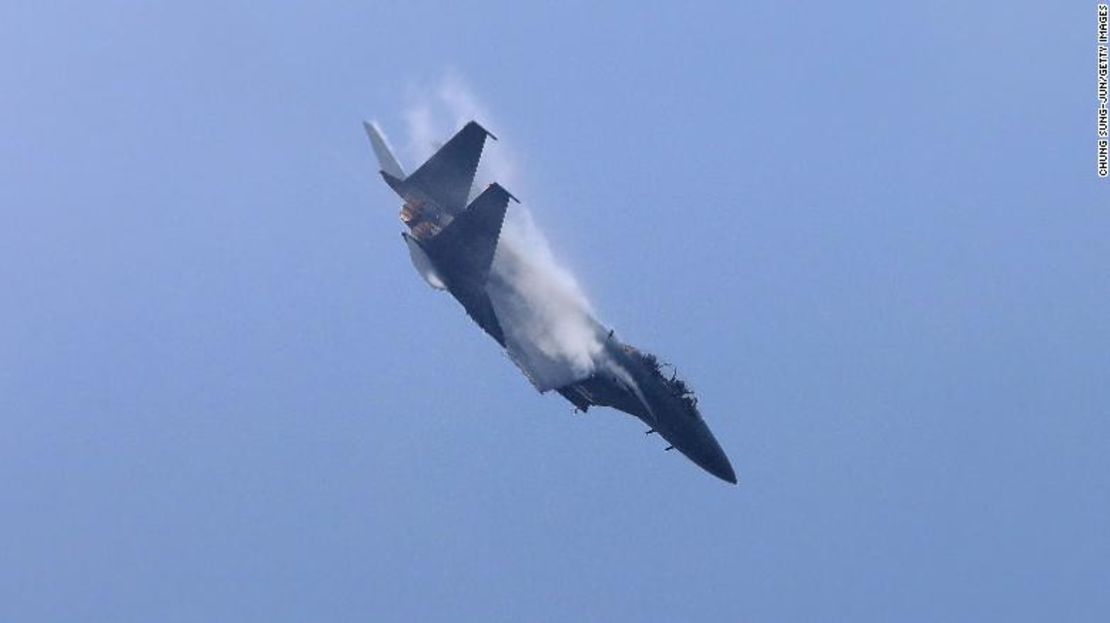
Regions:
<instances>
[{"instance_id":1,"label":"dark vertical tail fin higher up, farther from the jet's nose","mask_svg":"<svg viewBox=\"0 0 1110 623\"><path fill-rule=\"evenodd\" d=\"M405 185L418 189L452 214L462 212L471 194L474 173L482 158L485 128L471 121L446 142L427 162L405 179Z\"/></svg>"}]
</instances>

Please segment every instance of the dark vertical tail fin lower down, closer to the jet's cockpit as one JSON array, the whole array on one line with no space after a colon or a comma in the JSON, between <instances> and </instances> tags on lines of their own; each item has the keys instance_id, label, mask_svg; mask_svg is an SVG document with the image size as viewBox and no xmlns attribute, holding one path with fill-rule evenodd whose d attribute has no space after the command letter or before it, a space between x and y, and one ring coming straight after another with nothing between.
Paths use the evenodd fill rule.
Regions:
<instances>
[{"instance_id":1,"label":"dark vertical tail fin lower down, closer to the jet's cockpit","mask_svg":"<svg viewBox=\"0 0 1110 623\"><path fill-rule=\"evenodd\" d=\"M427 241L428 251L453 279L485 283L509 199L515 201L501 184L490 184L446 229Z\"/></svg>"}]
</instances>

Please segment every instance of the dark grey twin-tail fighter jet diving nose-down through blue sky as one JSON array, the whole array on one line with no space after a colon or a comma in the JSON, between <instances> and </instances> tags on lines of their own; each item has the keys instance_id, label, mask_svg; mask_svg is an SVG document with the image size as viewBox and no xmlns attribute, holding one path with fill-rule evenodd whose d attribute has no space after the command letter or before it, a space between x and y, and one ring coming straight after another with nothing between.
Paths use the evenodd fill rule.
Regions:
<instances>
[{"instance_id":1,"label":"dark grey twin-tail fighter jet diving nose-down through blue sky","mask_svg":"<svg viewBox=\"0 0 1110 623\"><path fill-rule=\"evenodd\" d=\"M470 200L485 140L496 137L471 121L406 175L380 129L364 127L382 178L403 201L400 215L407 231L401 237L416 271L428 285L451 293L537 390L556 391L577 411L610 406L634 415L648 434L667 441L666 450L678 450L710 474L736 483L697 399L677 374L664 372L666 364L655 355L623 343L592 315L585 324L596 348L585 366L553 361L528 332L517 330L521 315L529 313L529 294L518 283L524 260L500 244L508 202L516 198L494 182Z\"/></svg>"}]
</instances>

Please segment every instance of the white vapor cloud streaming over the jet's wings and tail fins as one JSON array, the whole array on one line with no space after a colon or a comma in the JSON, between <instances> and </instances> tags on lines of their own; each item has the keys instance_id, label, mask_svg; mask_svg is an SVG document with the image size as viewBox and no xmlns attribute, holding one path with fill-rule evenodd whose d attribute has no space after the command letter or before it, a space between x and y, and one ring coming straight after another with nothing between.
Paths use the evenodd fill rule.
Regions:
<instances>
[{"instance_id":1,"label":"white vapor cloud streaming over the jet's wings and tail fins","mask_svg":"<svg viewBox=\"0 0 1110 623\"><path fill-rule=\"evenodd\" d=\"M436 115L441 109L444 114ZM436 124L450 118L450 124ZM497 128L488 111L457 77L443 79L433 96L424 93L405 114L410 151L422 162L471 119ZM516 159L501 144L486 145L475 192L497 181L516 194ZM505 218L487 287L513 361L539 391L588 376L598 365L604 329L578 281L552 253L543 231L524 205Z\"/></svg>"}]
</instances>

